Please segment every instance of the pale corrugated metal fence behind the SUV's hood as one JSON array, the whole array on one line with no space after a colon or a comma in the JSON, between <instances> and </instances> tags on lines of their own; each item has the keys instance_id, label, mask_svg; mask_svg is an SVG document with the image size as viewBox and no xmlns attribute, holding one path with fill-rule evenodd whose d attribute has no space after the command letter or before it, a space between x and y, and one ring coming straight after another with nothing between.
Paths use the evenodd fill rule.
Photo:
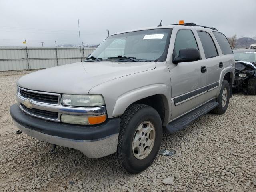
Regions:
<instances>
[{"instance_id":1,"label":"pale corrugated metal fence behind the SUV's hood","mask_svg":"<svg viewBox=\"0 0 256 192\"><path fill-rule=\"evenodd\" d=\"M84 57L95 48L84 48ZM81 48L57 48L58 65L65 65L83 60ZM0 71L42 69L57 66L56 50L52 47L28 47L28 61L24 47L0 47Z\"/></svg>"}]
</instances>

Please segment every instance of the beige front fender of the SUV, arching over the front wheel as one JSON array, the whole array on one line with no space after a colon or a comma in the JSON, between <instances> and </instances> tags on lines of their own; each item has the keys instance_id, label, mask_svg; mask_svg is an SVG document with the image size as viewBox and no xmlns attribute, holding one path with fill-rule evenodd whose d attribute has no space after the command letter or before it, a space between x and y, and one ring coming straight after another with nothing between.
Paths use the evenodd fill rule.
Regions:
<instances>
[{"instance_id":1,"label":"beige front fender of the SUV, arching over the front wheel","mask_svg":"<svg viewBox=\"0 0 256 192\"><path fill-rule=\"evenodd\" d=\"M132 103L157 94L164 102L164 121L168 122L171 115L171 81L166 62L158 62L153 70L104 82L92 88L89 94L103 95L108 118L120 116Z\"/></svg>"}]
</instances>

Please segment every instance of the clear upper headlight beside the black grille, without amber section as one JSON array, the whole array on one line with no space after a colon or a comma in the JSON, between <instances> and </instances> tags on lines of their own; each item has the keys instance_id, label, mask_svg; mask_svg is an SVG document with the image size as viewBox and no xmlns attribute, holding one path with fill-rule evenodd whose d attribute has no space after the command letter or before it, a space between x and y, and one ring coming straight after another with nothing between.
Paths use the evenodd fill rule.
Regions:
<instances>
[{"instance_id":1,"label":"clear upper headlight beside the black grille, without amber section","mask_svg":"<svg viewBox=\"0 0 256 192\"><path fill-rule=\"evenodd\" d=\"M71 95L63 94L61 97L63 105L78 107L102 106L105 104L102 95Z\"/></svg>"}]
</instances>

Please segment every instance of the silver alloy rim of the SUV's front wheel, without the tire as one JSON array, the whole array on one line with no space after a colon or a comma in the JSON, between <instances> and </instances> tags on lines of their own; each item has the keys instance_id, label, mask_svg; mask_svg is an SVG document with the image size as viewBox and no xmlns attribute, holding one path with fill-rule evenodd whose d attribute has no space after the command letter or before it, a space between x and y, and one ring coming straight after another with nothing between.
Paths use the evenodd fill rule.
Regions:
<instances>
[{"instance_id":1,"label":"silver alloy rim of the SUV's front wheel, without the tire","mask_svg":"<svg viewBox=\"0 0 256 192\"><path fill-rule=\"evenodd\" d=\"M142 122L136 129L132 151L137 159L144 159L150 154L156 138L154 125L150 121Z\"/></svg>"}]
</instances>

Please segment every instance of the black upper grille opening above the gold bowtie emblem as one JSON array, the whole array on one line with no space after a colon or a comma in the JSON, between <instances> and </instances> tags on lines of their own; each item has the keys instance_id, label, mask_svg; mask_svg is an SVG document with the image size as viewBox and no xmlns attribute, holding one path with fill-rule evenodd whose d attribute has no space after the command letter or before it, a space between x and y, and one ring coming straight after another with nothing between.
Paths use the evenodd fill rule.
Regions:
<instances>
[{"instance_id":1,"label":"black upper grille opening above the gold bowtie emblem","mask_svg":"<svg viewBox=\"0 0 256 192\"><path fill-rule=\"evenodd\" d=\"M58 95L48 95L37 92L30 92L28 90L19 89L19 93L24 98L33 99L34 101L57 104L59 100Z\"/></svg>"}]
</instances>

